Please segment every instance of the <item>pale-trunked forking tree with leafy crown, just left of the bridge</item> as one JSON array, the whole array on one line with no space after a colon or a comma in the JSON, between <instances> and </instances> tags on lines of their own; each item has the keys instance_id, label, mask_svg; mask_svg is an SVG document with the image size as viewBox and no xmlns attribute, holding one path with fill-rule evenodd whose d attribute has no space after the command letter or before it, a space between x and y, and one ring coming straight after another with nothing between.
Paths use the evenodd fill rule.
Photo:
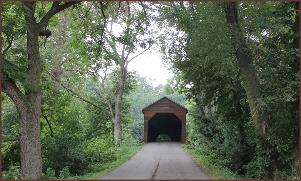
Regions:
<instances>
[{"instance_id":1,"label":"pale-trunked forking tree with leafy crown, just left of the bridge","mask_svg":"<svg viewBox=\"0 0 301 181\"><path fill-rule=\"evenodd\" d=\"M142 9L138 9L134 4L134 2L88 3L85 5L88 10L82 21L73 25L76 32L71 44L77 49L74 53L77 58L74 59L82 60L80 65L76 61L72 62L76 76L85 74L82 80L79 80L85 85L82 88L91 89L98 96L98 100L94 101L102 101L107 107L95 104L94 101L74 90L72 83L75 82L70 81L70 76L66 76L65 82L57 79L57 82L71 95L110 116L115 140L122 140L123 96L133 89L135 84L130 82L132 73L128 71L128 64L154 44L146 11L142 10L144 5L141 4ZM99 17L99 14L102 16ZM117 27L122 31L119 37L114 32ZM90 81L86 74L91 77Z\"/></svg>"}]
</instances>

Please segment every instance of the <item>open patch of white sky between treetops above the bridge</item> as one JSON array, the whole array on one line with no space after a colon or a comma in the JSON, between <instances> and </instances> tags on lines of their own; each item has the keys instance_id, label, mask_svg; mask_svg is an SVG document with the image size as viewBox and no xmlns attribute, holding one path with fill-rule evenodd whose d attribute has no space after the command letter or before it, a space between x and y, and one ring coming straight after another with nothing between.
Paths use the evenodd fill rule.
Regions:
<instances>
[{"instance_id":1,"label":"open patch of white sky between treetops above the bridge","mask_svg":"<svg viewBox=\"0 0 301 181\"><path fill-rule=\"evenodd\" d=\"M155 86L158 84L166 84L166 79L172 76L172 74L164 69L164 65L161 63L160 54L155 50L143 53L133 59L128 65L128 70L131 71L133 69L137 71L141 77L155 78L157 81L154 83Z\"/></svg>"}]
</instances>

